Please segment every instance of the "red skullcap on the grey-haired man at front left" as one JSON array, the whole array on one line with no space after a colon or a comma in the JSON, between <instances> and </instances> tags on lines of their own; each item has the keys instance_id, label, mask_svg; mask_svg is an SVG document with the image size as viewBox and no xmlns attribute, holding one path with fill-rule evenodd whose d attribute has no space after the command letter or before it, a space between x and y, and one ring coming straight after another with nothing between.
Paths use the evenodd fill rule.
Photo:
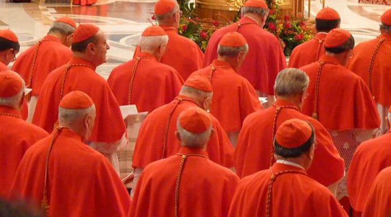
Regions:
<instances>
[{"instance_id":1,"label":"red skullcap on the grey-haired man at front left","mask_svg":"<svg viewBox=\"0 0 391 217\"><path fill-rule=\"evenodd\" d=\"M86 109L94 104L84 92L75 90L67 93L60 101L60 107L65 109Z\"/></svg>"}]
</instances>

